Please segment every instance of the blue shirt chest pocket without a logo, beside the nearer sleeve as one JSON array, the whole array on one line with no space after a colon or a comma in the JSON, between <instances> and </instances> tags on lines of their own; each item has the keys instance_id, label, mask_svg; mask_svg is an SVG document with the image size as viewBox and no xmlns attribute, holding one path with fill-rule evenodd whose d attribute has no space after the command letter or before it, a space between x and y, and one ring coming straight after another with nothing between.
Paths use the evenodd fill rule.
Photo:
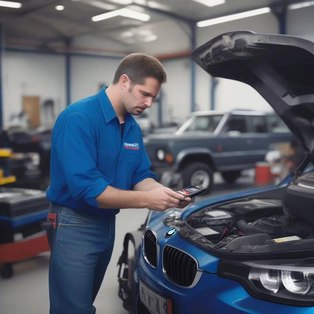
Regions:
<instances>
[{"instance_id":1,"label":"blue shirt chest pocket without a logo, beside the nearer sleeve","mask_svg":"<svg viewBox=\"0 0 314 314\"><path fill-rule=\"evenodd\" d=\"M115 180L118 152L98 149L97 168L101 174Z\"/></svg>"}]
</instances>

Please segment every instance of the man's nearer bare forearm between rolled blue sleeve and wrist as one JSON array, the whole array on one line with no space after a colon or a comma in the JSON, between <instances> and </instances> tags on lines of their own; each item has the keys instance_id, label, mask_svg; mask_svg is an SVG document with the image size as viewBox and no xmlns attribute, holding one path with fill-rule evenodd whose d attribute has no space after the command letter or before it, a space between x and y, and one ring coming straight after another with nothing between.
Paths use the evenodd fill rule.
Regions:
<instances>
[{"instance_id":1,"label":"man's nearer bare forearm between rolled blue sleeve and wrist","mask_svg":"<svg viewBox=\"0 0 314 314\"><path fill-rule=\"evenodd\" d=\"M146 193L142 191L125 191L111 186L98 195L95 200L98 208L147 208L149 206Z\"/></svg>"}]
</instances>

